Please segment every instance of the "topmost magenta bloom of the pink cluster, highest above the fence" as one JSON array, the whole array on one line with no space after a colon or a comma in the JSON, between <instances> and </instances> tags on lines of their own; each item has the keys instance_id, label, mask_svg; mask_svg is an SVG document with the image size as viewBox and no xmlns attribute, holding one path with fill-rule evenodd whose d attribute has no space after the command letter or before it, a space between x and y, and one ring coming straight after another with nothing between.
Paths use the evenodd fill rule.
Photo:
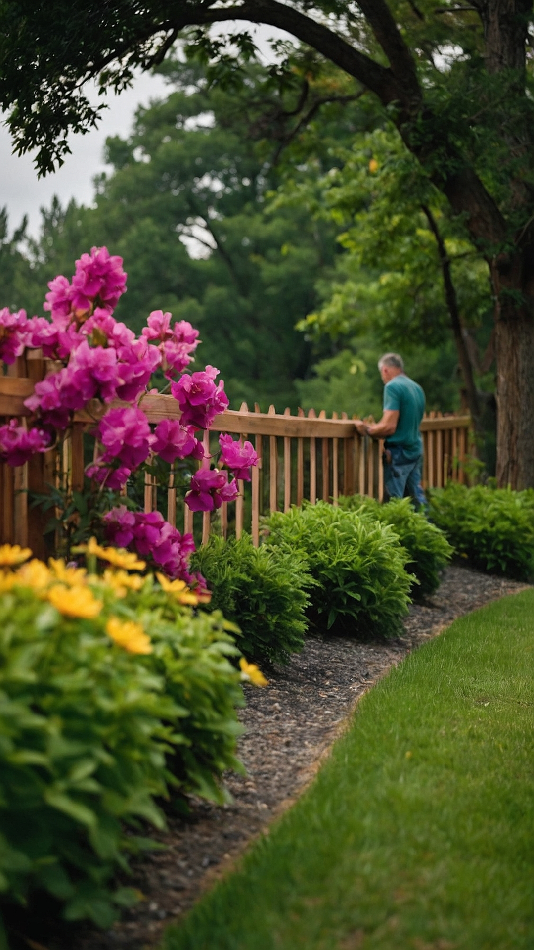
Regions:
<instances>
[{"instance_id":1,"label":"topmost magenta bloom of the pink cluster, highest above the fence","mask_svg":"<svg viewBox=\"0 0 534 950\"><path fill-rule=\"evenodd\" d=\"M106 247L92 247L76 261L72 277L72 308L90 312L95 303L111 314L126 289L123 258L111 257Z\"/></svg>"}]
</instances>

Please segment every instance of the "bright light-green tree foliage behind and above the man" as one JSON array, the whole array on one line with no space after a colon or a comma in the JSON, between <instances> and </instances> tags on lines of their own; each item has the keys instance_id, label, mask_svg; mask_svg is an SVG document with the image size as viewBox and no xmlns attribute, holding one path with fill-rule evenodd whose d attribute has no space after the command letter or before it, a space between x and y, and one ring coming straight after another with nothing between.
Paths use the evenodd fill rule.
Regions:
<instances>
[{"instance_id":1,"label":"bright light-green tree foliage behind and above the man","mask_svg":"<svg viewBox=\"0 0 534 950\"><path fill-rule=\"evenodd\" d=\"M335 258L334 272L319 279L321 307L298 326L314 340L330 337L348 355L370 336L380 352L401 349L410 375L428 393L429 408L458 409L458 354L442 261L424 209L444 240L478 385L491 389L478 353L492 323L486 260L389 124L350 145L338 141L333 151L337 167L322 177L311 168L300 180L288 180L277 199L280 207L304 205L316 218L334 221L345 250ZM315 369L321 376L328 363Z\"/></svg>"}]
</instances>

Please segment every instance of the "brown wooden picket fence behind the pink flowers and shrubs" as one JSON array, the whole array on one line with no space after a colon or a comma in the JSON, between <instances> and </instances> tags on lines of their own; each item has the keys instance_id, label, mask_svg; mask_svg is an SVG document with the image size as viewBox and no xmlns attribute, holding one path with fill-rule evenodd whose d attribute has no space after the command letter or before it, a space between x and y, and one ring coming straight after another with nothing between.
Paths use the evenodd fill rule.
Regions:
<instances>
[{"instance_id":1,"label":"brown wooden picket fence behind the pink flowers and shrubs","mask_svg":"<svg viewBox=\"0 0 534 950\"><path fill-rule=\"evenodd\" d=\"M29 412L24 400L33 391L34 383L45 377L48 361L37 350L24 357L0 376L0 425L10 418L24 420ZM146 395L142 408L149 422L179 419L180 408L172 396ZM463 482L464 463L468 452L470 419L467 415L442 415L430 412L421 425L425 447L424 487L440 487L448 480ZM61 472L54 470L53 452L34 456L25 466L12 468L0 464L0 542L29 545L43 557L46 553L44 531L49 512L29 507L32 492L44 493L48 485L63 484L74 490L84 485L85 442L94 419L79 412L72 433L64 443ZM219 511L193 514L177 499L171 485L166 492L146 476L144 510L159 510L180 530L194 531L202 543L210 531L240 537L243 530L259 542L260 517L269 511L286 511L303 499L337 503L340 494L369 495L382 501L384 494L381 465L382 442L359 436L346 412L305 415L298 409L278 414L274 406L260 412L256 405L250 411L243 403L238 411L227 410L218 415L204 436L204 449L215 453L220 432L230 432L239 439L250 439L256 448L259 464L252 469L251 483L239 482L236 502L222 504ZM166 497L165 497L166 496Z\"/></svg>"}]
</instances>

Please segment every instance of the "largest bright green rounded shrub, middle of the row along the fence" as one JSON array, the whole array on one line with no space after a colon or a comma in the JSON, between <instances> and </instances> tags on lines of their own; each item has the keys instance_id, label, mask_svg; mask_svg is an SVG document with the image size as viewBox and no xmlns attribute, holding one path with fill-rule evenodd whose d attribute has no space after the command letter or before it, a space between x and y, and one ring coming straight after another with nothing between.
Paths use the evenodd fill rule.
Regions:
<instances>
[{"instance_id":1,"label":"largest bright green rounded shrub, middle of the row along the fence","mask_svg":"<svg viewBox=\"0 0 534 950\"><path fill-rule=\"evenodd\" d=\"M317 502L264 521L269 550L304 557L315 614L355 633L394 636L408 611L408 555L387 524Z\"/></svg>"}]
</instances>

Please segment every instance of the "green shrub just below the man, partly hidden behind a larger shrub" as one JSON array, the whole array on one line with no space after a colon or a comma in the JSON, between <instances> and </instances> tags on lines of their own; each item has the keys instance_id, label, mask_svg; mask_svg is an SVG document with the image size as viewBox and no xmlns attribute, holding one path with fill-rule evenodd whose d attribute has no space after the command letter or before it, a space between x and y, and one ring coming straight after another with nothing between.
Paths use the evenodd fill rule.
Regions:
<instances>
[{"instance_id":1,"label":"green shrub just below the man, partly hidden behind a larger shrub","mask_svg":"<svg viewBox=\"0 0 534 950\"><path fill-rule=\"evenodd\" d=\"M388 504L379 504L364 495L350 495L339 499L339 507L369 512L382 524L391 524L410 556L406 569L415 575L411 587L413 598L428 597L437 590L440 571L450 561L453 551L443 532L429 523L424 514L414 511L409 498L393 498Z\"/></svg>"}]
</instances>

